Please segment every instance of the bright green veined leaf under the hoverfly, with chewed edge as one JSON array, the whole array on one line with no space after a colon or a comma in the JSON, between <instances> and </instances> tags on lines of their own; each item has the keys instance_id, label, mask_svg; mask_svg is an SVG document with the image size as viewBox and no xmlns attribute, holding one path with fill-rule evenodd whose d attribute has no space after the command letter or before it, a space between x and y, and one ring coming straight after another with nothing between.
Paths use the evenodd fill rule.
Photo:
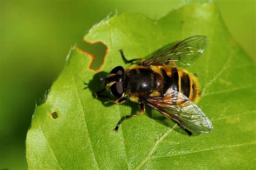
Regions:
<instances>
[{"instance_id":1,"label":"bright green veined leaf under the hoverfly, with chewed edge","mask_svg":"<svg viewBox=\"0 0 256 170\"><path fill-rule=\"evenodd\" d=\"M101 72L106 74L114 66L129 66L118 49L128 59L140 58L197 34L209 43L188 70L199 77L198 105L211 119L212 133L188 137L150 108L114 133L120 117L139 108L96 99L99 76L88 69L91 58L74 47L47 100L35 109L26 140L29 168L255 168L255 63L228 33L214 4L183 6L159 20L122 13L85 39L107 45Z\"/></svg>"}]
</instances>

